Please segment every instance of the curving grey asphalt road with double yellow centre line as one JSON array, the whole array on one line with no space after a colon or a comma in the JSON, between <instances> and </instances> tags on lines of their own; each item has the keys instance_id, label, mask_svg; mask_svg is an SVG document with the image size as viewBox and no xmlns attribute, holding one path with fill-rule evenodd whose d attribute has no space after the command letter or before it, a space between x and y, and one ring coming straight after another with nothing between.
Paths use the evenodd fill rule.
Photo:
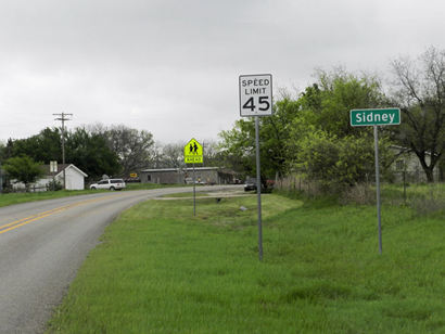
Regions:
<instances>
[{"instance_id":1,"label":"curving grey asphalt road with double yellow centre line","mask_svg":"<svg viewBox=\"0 0 445 334\"><path fill-rule=\"evenodd\" d=\"M199 187L217 191L225 187ZM88 252L124 209L157 189L96 193L0 208L0 333L41 333Z\"/></svg>"}]
</instances>

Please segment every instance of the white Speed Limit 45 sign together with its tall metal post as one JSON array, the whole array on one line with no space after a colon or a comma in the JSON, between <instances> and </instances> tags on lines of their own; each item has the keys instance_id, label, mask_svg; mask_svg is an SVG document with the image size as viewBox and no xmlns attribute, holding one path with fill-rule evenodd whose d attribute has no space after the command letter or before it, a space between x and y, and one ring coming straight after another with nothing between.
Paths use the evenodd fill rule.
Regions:
<instances>
[{"instance_id":1,"label":"white Speed Limit 45 sign together with its tall metal post","mask_svg":"<svg viewBox=\"0 0 445 334\"><path fill-rule=\"evenodd\" d=\"M258 257L263 260L262 174L259 160L259 116L272 114L272 76L270 74L241 75L240 115L255 117L256 193L258 202Z\"/></svg>"}]
</instances>

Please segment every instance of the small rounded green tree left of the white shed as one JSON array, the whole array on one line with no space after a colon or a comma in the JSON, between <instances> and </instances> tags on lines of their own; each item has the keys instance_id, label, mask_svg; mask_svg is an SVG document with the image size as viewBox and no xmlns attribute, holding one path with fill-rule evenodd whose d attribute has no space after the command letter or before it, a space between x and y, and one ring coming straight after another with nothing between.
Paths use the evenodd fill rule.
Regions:
<instances>
[{"instance_id":1,"label":"small rounded green tree left of the white shed","mask_svg":"<svg viewBox=\"0 0 445 334\"><path fill-rule=\"evenodd\" d=\"M26 191L28 191L29 184L36 182L43 175L40 165L29 156L23 155L9 158L3 168L11 179L25 183Z\"/></svg>"}]
</instances>

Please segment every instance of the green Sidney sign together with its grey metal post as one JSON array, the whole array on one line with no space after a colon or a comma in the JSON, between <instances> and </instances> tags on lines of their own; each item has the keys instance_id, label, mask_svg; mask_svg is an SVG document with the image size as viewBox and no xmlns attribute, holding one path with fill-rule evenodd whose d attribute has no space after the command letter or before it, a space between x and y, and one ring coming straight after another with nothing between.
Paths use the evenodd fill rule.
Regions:
<instances>
[{"instance_id":1,"label":"green Sidney sign together with its grey metal post","mask_svg":"<svg viewBox=\"0 0 445 334\"><path fill-rule=\"evenodd\" d=\"M351 111L351 126L373 126L374 130L374 155L376 155L376 196L377 196L377 220L379 224L379 253L382 254L382 222L380 208L380 171L379 171L379 126L399 125L400 110L353 110Z\"/></svg>"}]
</instances>

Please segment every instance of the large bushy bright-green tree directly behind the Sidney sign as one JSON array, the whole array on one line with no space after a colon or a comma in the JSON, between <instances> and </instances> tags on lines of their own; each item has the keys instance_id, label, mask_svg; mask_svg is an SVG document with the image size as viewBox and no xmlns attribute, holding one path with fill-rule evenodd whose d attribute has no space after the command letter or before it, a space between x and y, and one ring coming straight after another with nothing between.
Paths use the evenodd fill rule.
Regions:
<instances>
[{"instance_id":1,"label":"large bushy bright-green tree directly behind the Sidney sign","mask_svg":"<svg viewBox=\"0 0 445 334\"><path fill-rule=\"evenodd\" d=\"M317 82L301 94L290 125L289 169L326 189L367 180L374 174L372 128L351 127L349 111L381 107L386 101L374 77L319 72ZM381 166L387 167L389 136L380 132Z\"/></svg>"}]
</instances>

